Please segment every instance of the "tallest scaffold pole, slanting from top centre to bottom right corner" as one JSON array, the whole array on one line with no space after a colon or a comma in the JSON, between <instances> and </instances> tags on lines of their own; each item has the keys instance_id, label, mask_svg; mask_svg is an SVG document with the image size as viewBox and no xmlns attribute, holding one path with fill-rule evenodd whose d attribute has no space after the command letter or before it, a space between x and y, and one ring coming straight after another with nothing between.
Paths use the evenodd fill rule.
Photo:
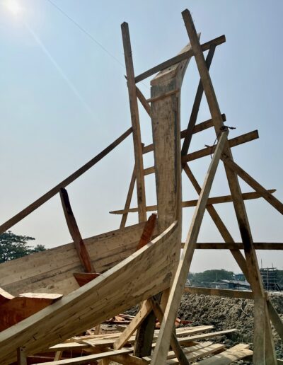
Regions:
<instances>
[{"instance_id":1,"label":"tallest scaffold pole, slanting from top centre to bottom right corner","mask_svg":"<svg viewBox=\"0 0 283 365\"><path fill-rule=\"evenodd\" d=\"M202 53L202 47L200 46L200 42L197 37L197 31L195 30L195 25L194 22L192 21L192 16L190 14L190 11L186 9L185 11L182 12L182 15L185 21L187 34L192 44L192 50L195 55L197 69L200 73L200 78L202 80L202 85L204 87L204 93L207 97L207 103L209 106L210 113L212 115L212 120L214 122L214 129L216 132L216 136L219 136L219 132L223 127L223 122L221 120L221 112L212 85L212 80L210 78L209 71L207 70L207 66L205 64L204 55ZM228 144L224 149L224 153L226 154L226 156L231 158L231 160L233 160L233 156L231 150L229 149ZM261 364L262 359L265 358L265 351L267 351L267 352L272 352L272 357L274 359L274 362L276 362L274 346L272 346L272 348L270 347L265 348L265 315L267 315L267 306L266 303L264 302L265 291L263 289L262 279L260 277L258 260L256 257L255 250L253 248L253 236L250 231L248 216L246 213L246 207L241 197L241 187L239 185L236 173L233 173L231 170L229 170L229 168L226 168L226 166L225 166L225 171L229 182L229 187L231 190L231 195L233 196L233 205L238 220L238 226L240 229L241 238L245 245L245 255L248 267L248 279L252 286L253 291L255 292L255 297L256 297L255 316L254 316L255 354L253 361L255 362L255 364ZM269 331L270 329L267 328L267 330ZM268 335L270 338L272 338L271 332L269 332Z\"/></svg>"}]
</instances>

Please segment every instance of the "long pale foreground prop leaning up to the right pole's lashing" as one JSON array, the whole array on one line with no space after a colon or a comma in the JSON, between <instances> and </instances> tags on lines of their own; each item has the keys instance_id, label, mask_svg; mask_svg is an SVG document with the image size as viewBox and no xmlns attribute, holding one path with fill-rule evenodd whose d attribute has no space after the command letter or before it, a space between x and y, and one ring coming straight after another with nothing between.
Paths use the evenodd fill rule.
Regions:
<instances>
[{"instance_id":1,"label":"long pale foreground prop leaning up to the right pole's lashing","mask_svg":"<svg viewBox=\"0 0 283 365\"><path fill-rule=\"evenodd\" d=\"M209 197L209 192L212 187L212 182L214 180L216 168L218 166L221 153L226 144L228 133L228 130L221 133L221 137L219 138L219 142L216 146L214 156L211 163L209 164L207 175L204 179L202 192L200 193L197 207L195 208L195 214L192 217L190 231L187 235L185 248L180 258L180 263L178 265L178 269L171 287L166 311L164 313L164 319L162 321L158 340L156 342L156 349L154 350L154 356L151 361L152 365L163 364L166 361L171 332L173 330L175 317L178 312L180 299L183 294L183 288L185 286L187 274L190 270L190 263L192 261L192 255L195 250L195 243L197 242L197 236L200 232L200 226L202 224L202 218L204 216L205 207L207 205L207 199Z\"/></svg>"}]
</instances>

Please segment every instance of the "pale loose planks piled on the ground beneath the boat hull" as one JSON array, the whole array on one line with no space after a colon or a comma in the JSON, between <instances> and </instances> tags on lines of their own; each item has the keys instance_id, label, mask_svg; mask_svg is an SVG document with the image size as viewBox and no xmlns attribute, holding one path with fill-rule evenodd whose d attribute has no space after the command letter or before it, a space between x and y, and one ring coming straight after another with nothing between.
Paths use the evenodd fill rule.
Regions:
<instances>
[{"instance_id":1,"label":"pale loose planks piled on the ground beneath the boat hull","mask_svg":"<svg viewBox=\"0 0 283 365\"><path fill-rule=\"evenodd\" d=\"M178 342L183 346L185 357L190 363L193 361L193 364L231 364L238 359L252 356L253 352L248 349L248 344L237 344L230 349L226 349L224 344L215 342L215 338L236 332L236 329L218 332L211 332L212 330L212 325L190 326L176 330ZM155 347L158 334L159 330L155 330L152 349ZM47 349L44 356L42 356L43 354L37 354L28 357L28 361L29 364L39 364L39 362L35 362L35 359L37 361L40 359L42 365L108 364L107 361L115 361L118 364L125 365L146 365L151 363L151 356L142 358L134 356L135 334L129 337L124 347L113 349L120 335L121 333L118 332L72 337L64 343ZM214 342L208 339L214 339ZM48 361L42 362L43 359L48 359ZM96 361L102 362L97 363ZM179 364L173 351L168 352L166 364Z\"/></svg>"}]
</instances>

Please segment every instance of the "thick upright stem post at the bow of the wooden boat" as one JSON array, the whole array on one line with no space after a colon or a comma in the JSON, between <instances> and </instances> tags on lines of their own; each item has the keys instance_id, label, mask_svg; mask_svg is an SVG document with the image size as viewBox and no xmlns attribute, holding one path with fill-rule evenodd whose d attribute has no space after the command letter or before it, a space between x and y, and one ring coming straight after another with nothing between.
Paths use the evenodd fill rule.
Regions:
<instances>
[{"instance_id":1,"label":"thick upright stem post at the bow of the wooden boat","mask_svg":"<svg viewBox=\"0 0 283 365\"><path fill-rule=\"evenodd\" d=\"M185 47L180 53L190 49ZM180 160L180 88L190 59L185 59L159 72L151 80L151 122L154 141L156 173L156 197L158 212L158 233L163 232L173 221L178 228L172 235L172 251L168 260L178 265L182 230L182 188ZM165 307L168 290L164 292L161 307ZM160 300L160 296L158 296ZM151 313L137 332L134 354L144 357L151 354L155 315Z\"/></svg>"}]
</instances>

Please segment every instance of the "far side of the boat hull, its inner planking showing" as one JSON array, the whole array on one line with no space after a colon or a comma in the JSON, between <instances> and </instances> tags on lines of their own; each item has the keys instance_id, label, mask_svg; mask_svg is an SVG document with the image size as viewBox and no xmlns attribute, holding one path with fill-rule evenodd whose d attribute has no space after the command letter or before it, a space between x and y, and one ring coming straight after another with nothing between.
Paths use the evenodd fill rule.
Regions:
<instances>
[{"instance_id":1,"label":"far side of the boat hull, its inner planking showing","mask_svg":"<svg viewBox=\"0 0 283 365\"><path fill-rule=\"evenodd\" d=\"M105 272L134 253L144 223L86 238L84 243L96 272ZM69 294L79 289L74 272L83 272L73 243L4 262L0 265L0 287L8 293Z\"/></svg>"}]
</instances>

